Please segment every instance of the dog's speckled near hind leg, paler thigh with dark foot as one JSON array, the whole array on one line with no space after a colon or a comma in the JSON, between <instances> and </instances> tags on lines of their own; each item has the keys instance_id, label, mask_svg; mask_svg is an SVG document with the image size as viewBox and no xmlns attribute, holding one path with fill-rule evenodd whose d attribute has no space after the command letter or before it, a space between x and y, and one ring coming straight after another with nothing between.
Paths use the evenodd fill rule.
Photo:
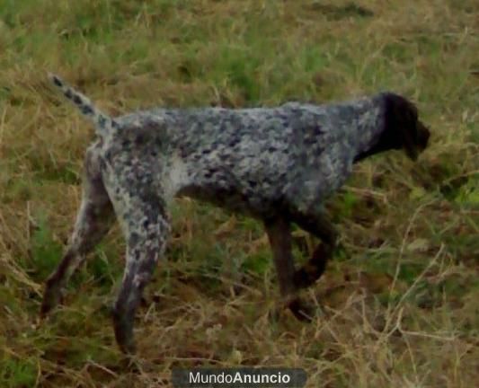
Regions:
<instances>
[{"instance_id":1,"label":"dog's speckled near hind leg, paler thigh with dark foot","mask_svg":"<svg viewBox=\"0 0 479 388\"><path fill-rule=\"evenodd\" d=\"M113 306L115 338L124 353L135 352L133 326L141 295L164 253L170 225L162 199L148 189L130 196L121 216L127 240L127 259L120 292ZM126 202L124 203L126 204Z\"/></svg>"}]
</instances>

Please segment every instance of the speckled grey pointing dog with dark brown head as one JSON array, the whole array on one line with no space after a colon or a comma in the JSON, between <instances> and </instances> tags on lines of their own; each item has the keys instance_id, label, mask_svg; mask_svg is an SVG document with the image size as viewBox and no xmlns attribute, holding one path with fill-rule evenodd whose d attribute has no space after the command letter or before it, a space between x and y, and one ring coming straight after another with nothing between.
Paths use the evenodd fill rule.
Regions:
<instances>
[{"instance_id":1,"label":"speckled grey pointing dog with dark brown head","mask_svg":"<svg viewBox=\"0 0 479 388\"><path fill-rule=\"evenodd\" d=\"M93 120L98 139L86 152L82 206L65 256L47 281L41 313L58 304L68 278L116 215L127 261L113 324L128 353L135 349L133 322L142 290L164 253L173 197L198 198L261 219L280 294L300 315L297 289L321 276L336 244L324 198L342 186L353 163L400 148L416 159L430 137L414 105L394 93L318 106L155 109L112 119L58 76L50 79ZM297 270L291 223L323 242Z\"/></svg>"}]
</instances>

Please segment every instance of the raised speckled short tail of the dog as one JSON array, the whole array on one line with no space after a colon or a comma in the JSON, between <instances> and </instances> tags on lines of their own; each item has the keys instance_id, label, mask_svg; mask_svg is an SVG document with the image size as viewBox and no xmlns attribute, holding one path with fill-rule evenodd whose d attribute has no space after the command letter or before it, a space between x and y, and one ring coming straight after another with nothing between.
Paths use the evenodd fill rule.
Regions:
<instances>
[{"instance_id":1,"label":"raised speckled short tail of the dog","mask_svg":"<svg viewBox=\"0 0 479 388\"><path fill-rule=\"evenodd\" d=\"M115 119L96 108L88 97L65 83L58 75L49 73L49 79L68 100L76 105L85 117L93 121L95 132L99 137L107 137L111 134L113 128L118 127Z\"/></svg>"}]
</instances>

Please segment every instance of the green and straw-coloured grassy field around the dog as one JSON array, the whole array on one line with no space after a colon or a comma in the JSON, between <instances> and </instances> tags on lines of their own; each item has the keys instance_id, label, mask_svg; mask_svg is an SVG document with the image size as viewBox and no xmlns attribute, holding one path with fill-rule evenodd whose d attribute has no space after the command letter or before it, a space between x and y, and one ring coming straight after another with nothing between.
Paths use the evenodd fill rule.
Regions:
<instances>
[{"instance_id":1,"label":"green and straw-coloured grassy field around the dog","mask_svg":"<svg viewBox=\"0 0 479 388\"><path fill-rule=\"evenodd\" d=\"M476 0L0 0L0 386L169 386L172 366L303 367L308 387L476 386L478 18ZM178 200L129 370L109 316L118 227L38 320L93 140L47 71L112 114L393 90L417 101L430 148L361 163L328 202L344 250L304 293L320 312L310 324L271 318L260 224ZM295 240L306 260L315 242Z\"/></svg>"}]
</instances>

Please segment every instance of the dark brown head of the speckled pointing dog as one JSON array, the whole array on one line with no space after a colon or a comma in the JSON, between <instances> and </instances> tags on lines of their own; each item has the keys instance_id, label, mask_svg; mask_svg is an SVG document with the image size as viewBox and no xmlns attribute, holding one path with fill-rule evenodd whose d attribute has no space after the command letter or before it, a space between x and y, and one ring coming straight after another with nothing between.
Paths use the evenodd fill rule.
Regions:
<instances>
[{"instance_id":1,"label":"dark brown head of the speckled pointing dog","mask_svg":"<svg viewBox=\"0 0 479 388\"><path fill-rule=\"evenodd\" d=\"M404 149L416 160L427 147L430 131L418 119L415 105L395 93L385 93L385 131L379 140L383 149Z\"/></svg>"}]
</instances>

